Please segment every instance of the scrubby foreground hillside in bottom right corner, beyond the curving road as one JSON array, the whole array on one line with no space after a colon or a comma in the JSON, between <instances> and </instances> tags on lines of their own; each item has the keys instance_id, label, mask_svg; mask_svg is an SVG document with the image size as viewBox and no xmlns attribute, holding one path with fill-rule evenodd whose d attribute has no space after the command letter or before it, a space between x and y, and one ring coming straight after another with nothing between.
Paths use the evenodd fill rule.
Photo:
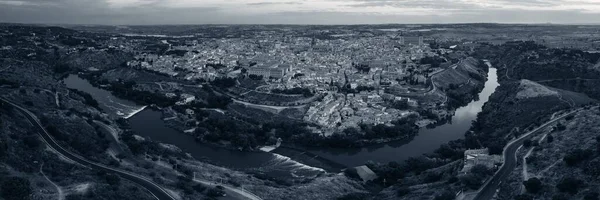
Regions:
<instances>
[{"instance_id":1,"label":"scrubby foreground hillside in bottom right corner, beyond the curving road","mask_svg":"<svg viewBox=\"0 0 600 200\"><path fill-rule=\"evenodd\" d=\"M503 184L500 198L598 199L599 121L599 107L591 107L537 135L521 149L518 158L526 162Z\"/></svg>"}]
</instances>

